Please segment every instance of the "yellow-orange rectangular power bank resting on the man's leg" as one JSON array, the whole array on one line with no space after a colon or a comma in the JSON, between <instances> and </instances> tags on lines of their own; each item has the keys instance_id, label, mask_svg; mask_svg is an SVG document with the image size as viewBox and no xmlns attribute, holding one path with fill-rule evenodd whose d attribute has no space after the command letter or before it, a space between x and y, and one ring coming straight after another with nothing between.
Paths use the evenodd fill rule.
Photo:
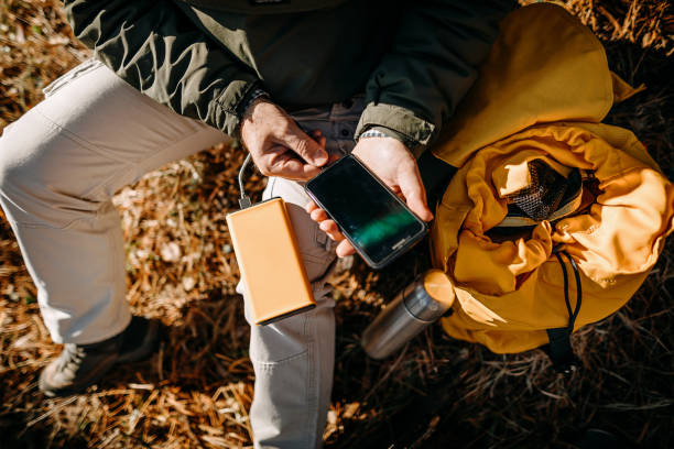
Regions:
<instances>
[{"instance_id":1,"label":"yellow-orange rectangular power bank resting on the man's leg","mask_svg":"<svg viewBox=\"0 0 674 449\"><path fill-rule=\"evenodd\" d=\"M227 226L256 325L316 307L283 199L229 213Z\"/></svg>"}]
</instances>

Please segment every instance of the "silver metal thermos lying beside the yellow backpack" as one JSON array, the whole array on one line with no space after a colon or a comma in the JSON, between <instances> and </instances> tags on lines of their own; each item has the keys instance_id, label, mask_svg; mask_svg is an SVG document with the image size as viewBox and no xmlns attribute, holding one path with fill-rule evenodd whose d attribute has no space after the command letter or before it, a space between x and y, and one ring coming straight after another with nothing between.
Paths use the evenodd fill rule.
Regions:
<instances>
[{"instance_id":1,"label":"silver metal thermos lying beside the yellow backpack","mask_svg":"<svg viewBox=\"0 0 674 449\"><path fill-rule=\"evenodd\" d=\"M373 359L383 359L442 317L455 294L447 275L431 270L407 285L368 326L360 343Z\"/></svg>"}]
</instances>

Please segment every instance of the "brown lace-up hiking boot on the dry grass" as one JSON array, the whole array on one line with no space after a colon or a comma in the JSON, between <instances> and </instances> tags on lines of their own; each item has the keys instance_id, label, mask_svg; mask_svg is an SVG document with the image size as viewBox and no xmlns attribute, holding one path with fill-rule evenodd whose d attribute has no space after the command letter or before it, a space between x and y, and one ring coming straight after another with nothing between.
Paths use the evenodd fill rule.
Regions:
<instances>
[{"instance_id":1,"label":"brown lace-up hiking boot on the dry grass","mask_svg":"<svg viewBox=\"0 0 674 449\"><path fill-rule=\"evenodd\" d=\"M40 390L50 397L83 391L115 364L148 358L156 347L159 322L132 317L119 335L98 343L65 344L63 352L40 374Z\"/></svg>"}]
</instances>

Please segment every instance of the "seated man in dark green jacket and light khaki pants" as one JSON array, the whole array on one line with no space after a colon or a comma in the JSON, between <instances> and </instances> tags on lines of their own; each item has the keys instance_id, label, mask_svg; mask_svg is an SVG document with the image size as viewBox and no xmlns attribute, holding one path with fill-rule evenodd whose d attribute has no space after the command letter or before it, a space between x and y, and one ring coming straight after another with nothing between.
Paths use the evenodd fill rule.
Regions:
<instances>
[{"instance_id":1,"label":"seated man in dark green jacket and light khaki pants","mask_svg":"<svg viewBox=\"0 0 674 449\"><path fill-rule=\"evenodd\" d=\"M334 363L334 245L298 180L354 152L424 220L415 156L476 77L510 2L348 0L65 1L94 48L0 140L0 202L52 338L48 395L146 357L153 325L124 302L110 198L148 171L238 136L270 176L317 307L251 329L256 447L320 446ZM317 139L307 132L319 131ZM356 143L357 142L357 143ZM333 230L334 231L334 230ZM334 232L333 232L334 233ZM344 255L348 248L338 247Z\"/></svg>"}]
</instances>

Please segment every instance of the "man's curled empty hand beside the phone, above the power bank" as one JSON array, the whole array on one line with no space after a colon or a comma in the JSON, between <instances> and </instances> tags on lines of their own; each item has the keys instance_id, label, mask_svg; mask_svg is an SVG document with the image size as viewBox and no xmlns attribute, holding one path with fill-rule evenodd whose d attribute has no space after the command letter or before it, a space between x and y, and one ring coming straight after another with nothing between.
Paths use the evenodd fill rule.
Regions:
<instances>
[{"instance_id":1,"label":"man's curled empty hand beside the phone, above the power bank","mask_svg":"<svg viewBox=\"0 0 674 449\"><path fill-rule=\"evenodd\" d=\"M241 141L265 176L306 180L328 161L327 152L279 106L260 98L241 120Z\"/></svg>"}]
</instances>

